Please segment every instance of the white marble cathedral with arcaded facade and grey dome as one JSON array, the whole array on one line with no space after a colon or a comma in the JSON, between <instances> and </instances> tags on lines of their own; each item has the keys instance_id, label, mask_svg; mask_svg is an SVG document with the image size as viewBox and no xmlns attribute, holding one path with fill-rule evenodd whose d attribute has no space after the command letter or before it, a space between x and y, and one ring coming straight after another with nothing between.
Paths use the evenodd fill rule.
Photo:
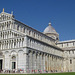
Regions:
<instances>
[{"instance_id":1,"label":"white marble cathedral with arcaded facade and grey dome","mask_svg":"<svg viewBox=\"0 0 75 75\"><path fill-rule=\"evenodd\" d=\"M23 73L74 72L75 40L59 41L51 23L43 32L0 13L0 70Z\"/></svg>"}]
</instances>

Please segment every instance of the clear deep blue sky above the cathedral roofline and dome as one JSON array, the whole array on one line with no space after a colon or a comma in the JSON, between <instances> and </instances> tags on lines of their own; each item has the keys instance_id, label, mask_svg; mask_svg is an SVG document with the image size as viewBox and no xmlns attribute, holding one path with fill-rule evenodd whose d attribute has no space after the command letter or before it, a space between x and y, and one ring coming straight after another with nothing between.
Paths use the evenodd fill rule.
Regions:
<instances>
[{"instance_id":1,"label":"clear deep blue sky above the cathedral roofline and dome","mask_svg":"<svg viewBox=\"0 0 75 75\"><path fill-rule=\"evenodd\" d=\"M0 0L0 12L43 32L51 22L61 41L75 39L75 0Z\"/></svg>"}]
</instances>

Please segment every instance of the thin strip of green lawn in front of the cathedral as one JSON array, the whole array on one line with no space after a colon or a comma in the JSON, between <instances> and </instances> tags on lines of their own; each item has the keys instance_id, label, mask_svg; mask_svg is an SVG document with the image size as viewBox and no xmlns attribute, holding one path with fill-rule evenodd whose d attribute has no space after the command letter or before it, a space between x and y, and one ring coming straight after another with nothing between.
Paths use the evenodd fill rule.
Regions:
<instances>
[{"instance_id":1,"label":"thin strip of green lawn in front of the cathedral","mask_svg":"<svg viewBox=\"0 0 75 75\"><path fill-rule=\"evenodd\" d=\"M8 74L0 74L0 75L8 75ZM75 75L75 72L70 72L70 73L50 73L50 74L10 74L10 75Z\"/></svg>"}]
</instances>

